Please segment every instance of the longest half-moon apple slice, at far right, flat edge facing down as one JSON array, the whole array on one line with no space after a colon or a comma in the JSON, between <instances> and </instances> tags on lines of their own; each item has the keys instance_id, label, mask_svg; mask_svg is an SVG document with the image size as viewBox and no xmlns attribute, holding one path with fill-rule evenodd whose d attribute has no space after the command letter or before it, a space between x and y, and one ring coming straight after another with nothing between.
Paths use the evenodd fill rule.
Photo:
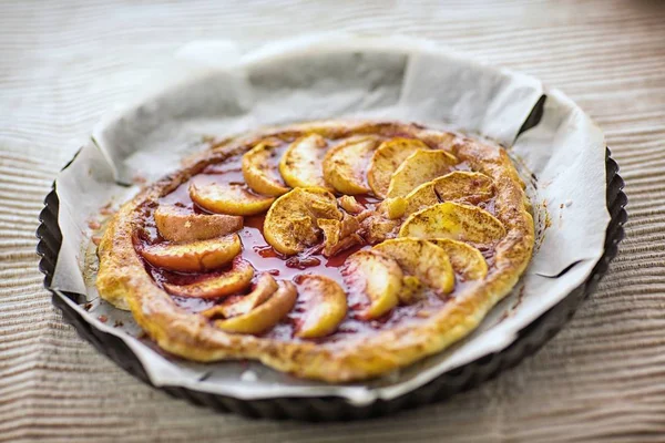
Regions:
<instances>
[{"instance_id":1,"label":"longest half-moon apple slice, at far right, flat edge facing down","mask_svg":"<svg viewBox=\"0 0 665 443\"><path fill-rule=\"evenodd\" d=\"M487 245L503 238L505 228L484 209L446 202L411 214L399 229L399 236L452 238Z\"/></svg>"}]
</instances>

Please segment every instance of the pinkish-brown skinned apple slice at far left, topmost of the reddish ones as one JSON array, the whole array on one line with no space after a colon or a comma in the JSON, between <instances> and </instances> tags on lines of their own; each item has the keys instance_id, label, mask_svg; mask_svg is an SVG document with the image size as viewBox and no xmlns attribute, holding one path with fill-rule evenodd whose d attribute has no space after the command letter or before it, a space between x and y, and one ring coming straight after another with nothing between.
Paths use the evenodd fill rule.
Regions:
<instances>
[{"instance_id":1,"label":"pinkish-brown skinned apple slice at far left, topmost of the reddish ones","mask_svg":"<svg viewBox=\"0 0 665 443\"><path fill-rule=\"evenodd\" d=\"M207 240L243 228L243 217L222 214L194 214L177 206L160 206L155 210L160 235L168 241Z\"/></svg>"}]
</instances>

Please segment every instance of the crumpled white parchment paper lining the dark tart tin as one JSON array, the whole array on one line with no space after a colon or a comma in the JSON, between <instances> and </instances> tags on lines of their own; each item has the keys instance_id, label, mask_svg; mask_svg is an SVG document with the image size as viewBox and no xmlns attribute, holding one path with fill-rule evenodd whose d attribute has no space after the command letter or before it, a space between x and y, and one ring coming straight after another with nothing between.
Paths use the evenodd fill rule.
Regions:
<instances>
[{"instance_id":1,"label":"crumpled white parchment paper lining the dark tart tin","mask_svg":"<svg viewBox=\"0 0 665 443\"><path fill-rule=\"evenodd\" d=\"M154 93L109 115L57 181L63 234L52 287L95 328L125 341L155 385L181 385L242 399L338 395L355 404L392 399L437 375L497 352L590 275L603 251L605 143L563 93L522 74L484 66L431 42L317 35L241 54L229 42L192 43L162 66ZM539 99L541 122L518 136ZM303 381L253 362L198 364L165 357L129 312L101 301L85 266L91 219L217 137L263 125L317 119L415 121L491 138L513 156L535 207L536 249L518 287L481 327L446 352L367 383ZM102 321L103 320L103 321Z\"/></svg>"}]
</instances>

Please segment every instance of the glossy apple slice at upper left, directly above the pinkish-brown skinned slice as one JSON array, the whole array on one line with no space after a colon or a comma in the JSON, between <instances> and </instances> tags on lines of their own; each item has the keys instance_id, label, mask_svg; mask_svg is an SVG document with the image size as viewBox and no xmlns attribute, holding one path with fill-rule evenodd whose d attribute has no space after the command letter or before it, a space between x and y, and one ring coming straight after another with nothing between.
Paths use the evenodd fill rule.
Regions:
<instances>
[{"instance_id":1,"label":"glossy apple slice at upper left, directly above the pinkish-brown skinned slice","mask_svg":"<svg viewBox=\"0 0 665 443\"><path fill-rule=\"evenodd\" d=\"M244 184L207 183L190 185L190 197L211 213L256 215L266 212L275 197L254 194Z\"/></svg>"}]
</instances>

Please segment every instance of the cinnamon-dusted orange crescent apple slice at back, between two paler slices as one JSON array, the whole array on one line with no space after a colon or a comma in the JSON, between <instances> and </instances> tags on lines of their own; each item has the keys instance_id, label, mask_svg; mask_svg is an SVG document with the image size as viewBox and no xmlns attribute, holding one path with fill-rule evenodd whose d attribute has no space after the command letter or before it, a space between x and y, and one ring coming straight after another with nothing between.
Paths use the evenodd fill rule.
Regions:
<instances>
[{"instance_id":1,"label":"cinnamon-dusted orange crescent apple slice at back, between two paler slices","mask_svg":"<svg viewBox=\"0 0 665 443\"><path fill-rule=\"evenodd\" d=\"M381 143L367 172L367 182L377 197L386 198L392 174L409 155L419 150L429 150L429 146L418 138L396 137Z\"/></svg>"}]
</instances>

